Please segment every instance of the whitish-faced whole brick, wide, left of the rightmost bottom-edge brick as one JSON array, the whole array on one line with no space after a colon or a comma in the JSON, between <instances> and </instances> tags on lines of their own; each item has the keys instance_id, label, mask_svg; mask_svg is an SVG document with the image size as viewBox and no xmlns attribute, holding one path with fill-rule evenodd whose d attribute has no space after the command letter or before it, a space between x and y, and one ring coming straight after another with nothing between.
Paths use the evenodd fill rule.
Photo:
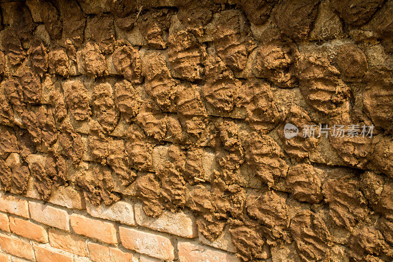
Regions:
<instances>
[{"instance_id":1,"label":"whitish-faced whole brick, wide, left of the rightmost bottom-edge brick","mask_svg":"<svg viewBox=\"0 0 393 262\"><path fill-rule=\"evenodd\" d=\"M125 248L162 259L174 259L174 248L169 238L136 229L119 227L120 240Z\"/></svg>"}]
</instances>

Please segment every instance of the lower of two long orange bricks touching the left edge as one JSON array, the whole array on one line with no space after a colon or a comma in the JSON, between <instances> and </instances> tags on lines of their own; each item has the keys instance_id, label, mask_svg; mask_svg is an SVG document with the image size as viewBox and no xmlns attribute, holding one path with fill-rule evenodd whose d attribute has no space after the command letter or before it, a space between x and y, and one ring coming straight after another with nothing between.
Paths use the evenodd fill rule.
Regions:
<instances>
[{"instance_id":1,"label":"lower of two long orange bricks touching the left edge","mask_svg":"<svg viewBox=\"0 0 393 262\"><path fill-rule=\"evenodd\" d=\"M1 250L27 260L34 260L34 251L27 241L0 233Z\"/></svg>"}]
</instances>

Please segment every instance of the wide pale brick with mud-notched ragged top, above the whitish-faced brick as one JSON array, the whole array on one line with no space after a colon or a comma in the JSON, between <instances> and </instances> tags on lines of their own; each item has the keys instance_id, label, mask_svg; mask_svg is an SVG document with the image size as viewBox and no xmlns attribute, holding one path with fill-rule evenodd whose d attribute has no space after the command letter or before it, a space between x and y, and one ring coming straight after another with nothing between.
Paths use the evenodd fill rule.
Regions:
<instances>
[{"instance_id":1,"label":"wide pale brick with mud-notched ragged top, above the whitish-faced brick","mask_svg":"<svg viewBox=\"0 0 393 262\"><path fill-rule=\"evenodd\" d=\"M142 204L139 203L135 204L135 218L137 224L145 228L189 238L198 236L194 216L184 212L164 211L159 217L149 217L144 213Z\"/></svg>"}]
</instances>

